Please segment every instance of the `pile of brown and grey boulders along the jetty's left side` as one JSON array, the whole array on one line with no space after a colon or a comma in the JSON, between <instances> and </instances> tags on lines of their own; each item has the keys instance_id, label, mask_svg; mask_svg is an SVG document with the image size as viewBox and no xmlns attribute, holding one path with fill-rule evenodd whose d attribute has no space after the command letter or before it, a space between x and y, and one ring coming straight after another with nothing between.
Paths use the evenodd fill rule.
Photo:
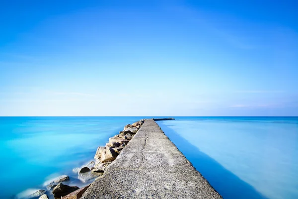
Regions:
<instances>
[{"instance_id":1,"label":"pile of brown and grey boulders along the jetty's left side","mask_svg":"<svg viewBox=\"0 0 298 199\"><path fill-rule=\"evenodd\" d=\"M77 179L73 180L79 180L87 186L82 188L70 186L74 184L72 179L67 175L63 175L45 182L42 186L44 189L20 193L15 199L80 199L89 188L90 183L102 176L108 166L116 160L117 156L136 135L145 121L146 119L142 119L133 124L127 124L122 131L111 137L105 146L97 148L94 161L73 170L73 172L77 173Z\"/></svg>"}]
</instances>

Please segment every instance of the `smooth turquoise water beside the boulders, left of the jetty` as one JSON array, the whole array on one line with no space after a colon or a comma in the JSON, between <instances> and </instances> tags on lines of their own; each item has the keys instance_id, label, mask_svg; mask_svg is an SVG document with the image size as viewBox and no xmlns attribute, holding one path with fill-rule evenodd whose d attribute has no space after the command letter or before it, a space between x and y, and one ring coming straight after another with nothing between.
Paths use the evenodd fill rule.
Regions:
<instances>
[{"instance_id":1,"label":"smooth turquoise water beside the boulders, left of the jetty","mask_svg":"<svg viewBox=\"0 0 298 199\"><path fill-rule=\"evenodd\" d=\"M144 117L0 117L0 199L41 189L91 160L98 146Z\"/></svg>"}]
</instances>

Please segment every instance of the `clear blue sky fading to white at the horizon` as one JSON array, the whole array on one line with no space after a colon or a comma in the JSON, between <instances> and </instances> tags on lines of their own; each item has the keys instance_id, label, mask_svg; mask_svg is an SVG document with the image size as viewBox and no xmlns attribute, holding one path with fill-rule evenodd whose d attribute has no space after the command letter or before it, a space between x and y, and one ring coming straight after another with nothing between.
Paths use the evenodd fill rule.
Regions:
<instances>
[{"instance_id":1,"label":"clear blue sky fading to white at the horizon","mask_svg":"<svg viewBox=\"0 0 298 199\"><path fill-rule=\"evenodd\" d=\"M1 2L2 116L297 116L298 3Z\"/></svg>"}]
</instances>

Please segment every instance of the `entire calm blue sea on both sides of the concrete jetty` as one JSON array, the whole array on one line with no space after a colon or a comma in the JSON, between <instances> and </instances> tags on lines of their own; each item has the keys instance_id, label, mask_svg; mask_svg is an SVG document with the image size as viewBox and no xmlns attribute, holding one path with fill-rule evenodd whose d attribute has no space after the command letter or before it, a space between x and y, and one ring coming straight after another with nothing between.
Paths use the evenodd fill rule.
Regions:
<instances>
[{"instance_id":1,"label":"entire calm blue sea on both sides of the concrete jetty","mask_svg":"<svg viewBox=\"0 0 298 199\"><path fill-rule=\"evenodd\" d=\"M144 117L0 117L0 199L93 159ZM298 198L298 117L175 117L158 124L225 199Z\"/></svg>"}]
</instances>

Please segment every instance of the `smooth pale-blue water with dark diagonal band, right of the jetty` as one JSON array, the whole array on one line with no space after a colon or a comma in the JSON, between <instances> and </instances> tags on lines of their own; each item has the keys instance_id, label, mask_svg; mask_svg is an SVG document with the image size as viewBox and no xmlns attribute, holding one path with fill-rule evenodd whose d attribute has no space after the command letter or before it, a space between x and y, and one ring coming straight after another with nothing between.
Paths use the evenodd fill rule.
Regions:
<instances>
[{"instance_id":1,"label":"smooth pale-blue water with dark diagonal band, right of the jetty","mask_svg":"<svg viewBox=\"0 0 298 199\"><path fill-rule=\"evenodd\" d=\"M224 199L298 199L298 117L175 117L165 134Z\"/></svg>"}]
</instances>

